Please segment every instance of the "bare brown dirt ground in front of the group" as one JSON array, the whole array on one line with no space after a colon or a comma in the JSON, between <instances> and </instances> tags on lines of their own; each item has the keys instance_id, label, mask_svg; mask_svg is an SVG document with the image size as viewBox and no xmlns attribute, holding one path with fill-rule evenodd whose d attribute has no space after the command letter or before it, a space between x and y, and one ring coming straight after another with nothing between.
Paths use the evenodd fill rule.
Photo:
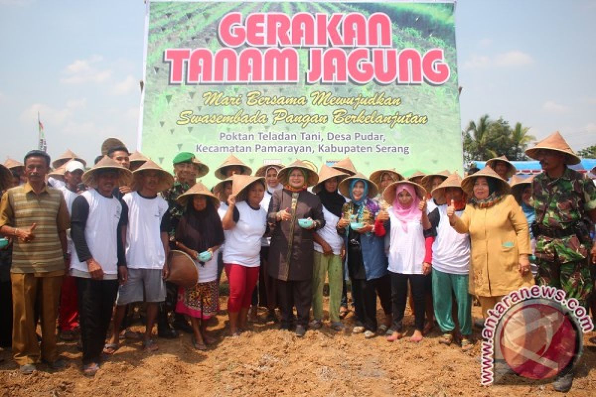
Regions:
<instances>
[{"instance_id":1,"label":"bare brown dirt ground in front of the group","mask_svg":"<svg viewBox=\"0 0 596 397\"><path fill-rule=\"evenodd\" d=\"M225 308L225 296L221 304ZM439 345L436 329L420 344L407 339L389 343L383 336L367 340L350 333L350 312L344 332L325 324L300 339L277 330L275 324L253 324L252 330L231 338L225 337L226 315L221 313L209 327L219 342L206 352L193 349L190 335L157 339L159 351L153 354L143 352L139 342L125 343L94 379L82 375L75 343L60 343L69 364L57 373L39 365L32 376L23 376L10 352L0 352L5 359L0 364L0 396L558 395L548 382L520 377L513 377L514 385L480 386L480 343L462 353L457 345ZM479 314L478 307L473 314ZM259 315L263 318L265 312ZM408 312L408 336L413 321ZM594 395L596 346L588 342L594 335L585 336L584 355L569 396ZM474 337L479 339L477 329Z\"/></svg>"}]
</instances>

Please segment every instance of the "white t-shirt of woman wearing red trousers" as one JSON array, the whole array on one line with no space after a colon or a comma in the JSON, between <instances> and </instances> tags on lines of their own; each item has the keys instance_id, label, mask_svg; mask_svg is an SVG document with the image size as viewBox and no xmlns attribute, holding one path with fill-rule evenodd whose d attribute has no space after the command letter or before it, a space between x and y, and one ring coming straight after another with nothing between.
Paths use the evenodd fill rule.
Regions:
<instances>
[{"instance_id":1,"label":"white t-shirt of woman wearing red trousers","mask_svg":"<svg viewBox=\"0 0 596 397\"><path fill-rule=\"evenodd\" d=\"M267 230L267 211L254 210L246 201L236 203L240 219L228 230L224 246L224 263L246 267L260 266L261 239Z\"/></svg>"}]
</instances>

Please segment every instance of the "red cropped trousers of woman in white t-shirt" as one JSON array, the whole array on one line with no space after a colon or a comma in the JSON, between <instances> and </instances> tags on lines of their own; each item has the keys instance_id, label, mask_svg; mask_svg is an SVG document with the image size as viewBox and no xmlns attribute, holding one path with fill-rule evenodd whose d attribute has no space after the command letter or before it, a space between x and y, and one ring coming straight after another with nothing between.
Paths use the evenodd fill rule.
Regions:
<instances>
[{"instance_id":1,"label":"red cropped trousers of woman in white t-shirt","mask_svg":"<svg viewBox=\"0 0 596 397\"><path fill-rule=\"evenodd\" d=\"M250 308L253 289L259 279L259 267L225 263L224 268L229 282L228 311L237 313L241 308Z\"/></svg>"}]
</instances>

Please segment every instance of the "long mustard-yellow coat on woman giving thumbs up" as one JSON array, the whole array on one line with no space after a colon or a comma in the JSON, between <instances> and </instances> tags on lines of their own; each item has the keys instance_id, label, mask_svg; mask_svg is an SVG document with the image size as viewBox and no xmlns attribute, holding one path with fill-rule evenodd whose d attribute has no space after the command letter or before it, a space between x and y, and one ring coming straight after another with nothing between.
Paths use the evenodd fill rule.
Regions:
<instances>
[{"instance_id":1,"label":"long mustard-yellow coat on woman giving thumbs up","mask_svg":"<svg viewBox=\"0 0 596 397\"><path fill-rule=\"evenodd\" d=\"M522 276L517 268L519 255L532 249L526 217L512 195L490 208L466 205L452 226L470 234L470 293L499 296L534 285L532 273Z\"/></svg>"}]
</instances>

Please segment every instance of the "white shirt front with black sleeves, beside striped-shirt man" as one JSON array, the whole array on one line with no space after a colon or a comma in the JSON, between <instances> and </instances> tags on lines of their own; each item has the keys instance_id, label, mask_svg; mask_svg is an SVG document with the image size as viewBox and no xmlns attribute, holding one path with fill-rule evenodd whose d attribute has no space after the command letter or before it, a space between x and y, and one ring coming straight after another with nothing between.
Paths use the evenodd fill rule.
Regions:
<instances>
[{"instance_id":1,"label":"white shirt front with black sleeves, beside striped-shirt man","mask_svg":"<svg viewBox=\"0 0 596 397\"><path fill-rule=\"evenodd\" d=\"M85 225L85 240L89 252L100 264L105 274L118 274L118 223L122 204L114 196L107 198L95 189L81 193L89 203L89 217ZM70 207L69 207L70 208ZM70 269L89 272L86 262L79 261L76 249L72 250Z\"/></svg>"}]
</instances>

